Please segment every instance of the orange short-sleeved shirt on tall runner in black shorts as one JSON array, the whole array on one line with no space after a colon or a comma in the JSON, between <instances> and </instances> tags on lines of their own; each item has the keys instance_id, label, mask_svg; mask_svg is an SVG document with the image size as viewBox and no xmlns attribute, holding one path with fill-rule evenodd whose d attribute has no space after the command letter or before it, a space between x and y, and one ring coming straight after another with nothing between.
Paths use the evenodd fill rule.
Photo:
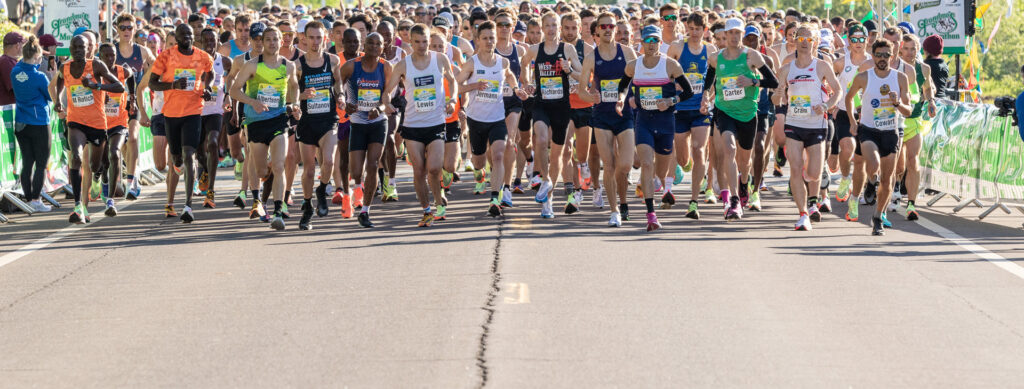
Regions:
<instances>
[{"instance_id":1,"label":"orange short-sleeved shirt on tall runner in black shorts","mask_svg":"<svg viewBox=\"0 0 1024 389\"><path fill-rule=\"evenodd\" d=\"M168 118L183 118L203 114L203 75L213 71L213 57L206 51L193 48L191 55L182 54L177 47L164 50L153 64L153 74L161 82L184 78L185 89L164 91L163 114Z\"/></svg>"}]
</instances>

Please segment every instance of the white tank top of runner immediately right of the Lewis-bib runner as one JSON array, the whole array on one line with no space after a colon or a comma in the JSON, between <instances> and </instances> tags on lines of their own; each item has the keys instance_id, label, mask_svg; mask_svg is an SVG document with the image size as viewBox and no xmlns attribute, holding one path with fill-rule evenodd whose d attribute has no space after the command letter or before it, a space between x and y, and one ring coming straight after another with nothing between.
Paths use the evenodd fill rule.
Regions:
<instances>
[{"instance_id":1,"label":"white tank top of runner immediately right of the Lewis-bib runner","mask_svg":"<svg viewBox=\"0 0 1024 389\"><path fill-rule=\"evenodd\" d=\"M505 101L502 99L505 72L502 68L502 57L495 55L495 63L489 67L480 61L479 54L473 55L471 59L475 72L469 77L468 82L472 84L483 81L487 87L467 93L466 117L484 123L505 120Z\"/></svg>"}]
</instances>

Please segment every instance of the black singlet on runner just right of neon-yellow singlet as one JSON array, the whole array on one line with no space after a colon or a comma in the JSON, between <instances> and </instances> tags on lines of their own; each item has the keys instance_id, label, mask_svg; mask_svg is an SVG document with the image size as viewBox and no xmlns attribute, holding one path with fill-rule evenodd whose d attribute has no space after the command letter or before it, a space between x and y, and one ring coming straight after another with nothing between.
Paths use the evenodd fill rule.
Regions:
<instances>
[{"instance_id":1,"label":"black singlet on runner just right of neon-yellow singlet","mask_svg":"<svg viewBox=\"0 0 1024 389\"><path fill-rule=\"evenodd\" d=\"M313 88L315 94L299 101L302 109L303 123L323 123L333 125L338 121L337 96L334 94L334 72L331 70L331 55L324 53L319 67L310 68L305 55L299 57L302 67L302 77L299 78L299 91Z\"/></svg>"}]
</instances>

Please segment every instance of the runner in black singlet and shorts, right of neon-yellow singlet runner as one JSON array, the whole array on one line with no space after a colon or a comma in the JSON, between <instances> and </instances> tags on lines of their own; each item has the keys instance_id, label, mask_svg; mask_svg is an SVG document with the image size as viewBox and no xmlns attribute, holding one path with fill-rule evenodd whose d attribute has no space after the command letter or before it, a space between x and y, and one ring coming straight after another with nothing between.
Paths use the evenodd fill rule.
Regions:
<instances>
[{"instance_id":1,"label":"runner in black singlet and shorts, right of neon-yellow singlet runner","mask_svg":"<svg viewBox=\"0 0 1024 389\"><path fill-rule=\"evenodd\" d=\"M296 137L302 147L302 219L299 229L312 229L313 178L316 175L316 160L321 162L319 185L316 186L316 216L328 215L327 185L334 176L335 147L338 145L338 105L341 98L341 78L338 75L339 59L334 54L324 52L327 43L327 29L319 21L305 25L302 34L308 44L308 51L298 60L299 107L302 110ZM341 100L341 101L338 101ZM339 103L340 102L340 103ZM318 156L318 157L317 157ZM340 186L340 185L339 185Z\"/></svg>"}]
</instances>

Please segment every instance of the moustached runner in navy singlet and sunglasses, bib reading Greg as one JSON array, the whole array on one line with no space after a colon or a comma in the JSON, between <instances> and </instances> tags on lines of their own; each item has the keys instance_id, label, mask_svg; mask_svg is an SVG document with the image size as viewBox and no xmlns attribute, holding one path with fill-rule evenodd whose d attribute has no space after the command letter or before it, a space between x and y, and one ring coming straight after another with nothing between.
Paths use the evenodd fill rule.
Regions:
<instances>
[{"instance_id":1,"label":"moustached runner in navy singlet and sunglasses, bib reading Greg","mask_svg":"<svg viewBox=\"0 0 1024 389\"><path fill-rule=\"evenodd\" d=\"M604 187L607 187L611 209L610 227L620 227L623 220L630 220L627 188L636 152L633 110L625 103L625 92L630 81L626 77L626 64L637 56L630 45L612 40L615 29L613 13L603 12L597 16L597 48L584 58L582 72L583 77L593 78L594 83L588 93L581 94L584 99L597 103L590 124L595 129L597 150L604 164Z\"/></svg>"}]
</instances>

